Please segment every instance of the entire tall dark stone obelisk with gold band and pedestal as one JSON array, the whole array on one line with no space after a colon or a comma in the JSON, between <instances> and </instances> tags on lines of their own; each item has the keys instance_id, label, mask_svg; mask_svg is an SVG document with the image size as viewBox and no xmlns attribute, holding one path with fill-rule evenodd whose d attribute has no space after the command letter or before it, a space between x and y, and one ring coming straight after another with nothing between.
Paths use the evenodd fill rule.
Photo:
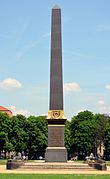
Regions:
<instances>
[{"instance_id":1,"label":"entire tall dark stone obelisk with gold band and pedestal","mask_svg":"<svg viewBox=\"0 0 110 179\"><path fill-rule=\"evenodd\" d=\"M65 117L63 110L62 36L61 9L52 8L51 62L50 62L50 106L48 111L48 147L46 162L66 162L67 150L64 142Z\"/></svg>"}]
</instances>

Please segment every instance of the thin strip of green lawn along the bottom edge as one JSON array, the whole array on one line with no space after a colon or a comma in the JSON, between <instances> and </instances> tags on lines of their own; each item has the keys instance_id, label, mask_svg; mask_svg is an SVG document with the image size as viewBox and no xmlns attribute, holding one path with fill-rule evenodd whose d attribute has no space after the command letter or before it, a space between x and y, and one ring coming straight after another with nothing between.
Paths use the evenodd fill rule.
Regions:
<instances>
[{"instance_id":1,"label":"thin strip of green lawn along the bottom edge","mask_svg":"<svg viewBox=\"0 0 110 179\"><path fill-rule=\"evenodd\" d=\"M110 175L0 174L0 179L109 179Z\"/></svg>"}]
</instances>

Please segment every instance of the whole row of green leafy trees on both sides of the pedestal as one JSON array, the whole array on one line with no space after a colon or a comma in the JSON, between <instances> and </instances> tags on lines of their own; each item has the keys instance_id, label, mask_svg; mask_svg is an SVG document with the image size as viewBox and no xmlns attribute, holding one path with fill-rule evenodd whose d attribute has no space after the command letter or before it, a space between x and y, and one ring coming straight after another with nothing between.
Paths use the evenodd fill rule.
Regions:
<instances>
[{"instance_id":1,"label":"whole row of green leafy trees on both sides of the pedestal","mask_svg":"<svg viewBox=\"0 0 110 179\"><path fill-rule=\"evenodd\" d=\"M23 115L9 117L0 113L0 154L1 151L24 152L29 159L36 159L45 154L47 147L46 116ZM83 111L66 121L65 146L68 155L77 153L79 158L93 152L101 144L105 145L105 153L110 157L110 117Z\"/></svg>"}]
</instances>

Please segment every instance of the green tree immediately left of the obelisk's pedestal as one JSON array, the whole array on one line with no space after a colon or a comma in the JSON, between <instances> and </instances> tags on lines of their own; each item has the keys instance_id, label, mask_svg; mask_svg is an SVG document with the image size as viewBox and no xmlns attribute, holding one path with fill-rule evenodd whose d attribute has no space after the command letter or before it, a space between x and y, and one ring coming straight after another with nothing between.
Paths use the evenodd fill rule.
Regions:
<instances>
[{"instance_id":1,"label":"green tree immediately left of the obelisk's pedestal","mask_svg":"<svg viewBox=\"0 0 110 179\"><path fill-rule=\"evenodd\" d=\"M47 147L47 120L45 116L30 116L27 119L27 151L29 159L44 157Z\"/></svg>"}]
</instances>

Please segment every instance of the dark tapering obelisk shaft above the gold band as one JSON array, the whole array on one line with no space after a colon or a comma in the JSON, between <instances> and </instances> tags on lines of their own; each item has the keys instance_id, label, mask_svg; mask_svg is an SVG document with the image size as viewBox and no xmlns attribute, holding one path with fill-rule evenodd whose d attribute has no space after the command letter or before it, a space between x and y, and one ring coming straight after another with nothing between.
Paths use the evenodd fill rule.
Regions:
<instances>
[{"instance_id":1,"label":"dark tapering obelisk shaft above the gold band","mask_svg":"<svg viewBox=\"0 0 110 179\"><path fill-rule=\"evenodd\" d=\"M50 110L63 110L61 9L52 9Z\"/></svg>"}]
</instances>

